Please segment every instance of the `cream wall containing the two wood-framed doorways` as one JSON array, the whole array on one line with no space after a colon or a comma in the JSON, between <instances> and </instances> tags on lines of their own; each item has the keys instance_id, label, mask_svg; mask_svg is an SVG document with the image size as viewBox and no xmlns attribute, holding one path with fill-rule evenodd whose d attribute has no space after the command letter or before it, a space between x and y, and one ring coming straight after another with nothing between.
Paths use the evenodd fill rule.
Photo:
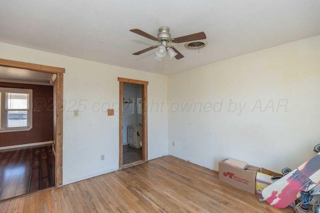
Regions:
<instances>
[{"instance_id":1,"label":"cream wall containing the two wood-framed doorways","mask_svg":"<svg viewBox=\"0 0 320 213\"><path fill-rule=\"evenodd\" d=\"M149 81L148 158L166 155L167 76L0 43L0 58L65 68L63 82L63 184L118 169L117 77ZM114 108L114 116L106 109ZM73 110L79 116L73 116ZM105 160L100 160L100 155Z\"/></svg>"}]
</instances>

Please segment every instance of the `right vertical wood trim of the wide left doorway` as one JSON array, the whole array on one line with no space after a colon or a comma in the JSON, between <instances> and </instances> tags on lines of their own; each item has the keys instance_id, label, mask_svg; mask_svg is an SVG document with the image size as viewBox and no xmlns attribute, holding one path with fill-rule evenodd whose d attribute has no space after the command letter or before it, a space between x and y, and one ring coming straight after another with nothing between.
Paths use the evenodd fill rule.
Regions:
<instances>
[{"instance_id":1,"label":"right vertical wood trim of the wide left doorway","mask_svg":"<svg viewBox=\"0 0 320 213\"><path fill-rule=\"evenodd\" d=\"M63 73L56 74L55 185L62 185Z\"/></svg>"}]
</instances>

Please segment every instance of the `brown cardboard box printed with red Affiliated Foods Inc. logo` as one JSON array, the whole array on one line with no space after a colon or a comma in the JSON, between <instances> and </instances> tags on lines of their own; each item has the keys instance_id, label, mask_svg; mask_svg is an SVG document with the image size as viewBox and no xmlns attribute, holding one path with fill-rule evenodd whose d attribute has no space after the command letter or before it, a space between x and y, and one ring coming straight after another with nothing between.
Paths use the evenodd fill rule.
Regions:
<instances>
[{"instance_id":1,"label":"brown cardboard box printed with red Affiliated Foods Inc. logo","mask_svg":"<svg viewBox=\"0 0 320 213\"><path fill-rule=\"evenodd\" d=\"M254 194L255 176L256 172L260 171L260 168L248 165L248 167L243 170L225 164L224 160L219 162L219 180Z\"/></svg>"}]
</instances>

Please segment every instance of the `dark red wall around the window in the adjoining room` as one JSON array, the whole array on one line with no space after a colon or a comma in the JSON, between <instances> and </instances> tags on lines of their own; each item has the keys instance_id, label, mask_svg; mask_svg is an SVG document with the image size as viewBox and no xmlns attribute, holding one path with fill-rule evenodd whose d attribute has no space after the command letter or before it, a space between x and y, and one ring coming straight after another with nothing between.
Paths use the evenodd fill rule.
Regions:
<instances>
[{"instance_id":1,"label":"dark red wall around the window in the adjoining room","mask_svg":"<svg viewBox=\"0 0 320 213\"><path fill-rule=\"evenodd\" d=\"M0 133L0 147L53 140L53 86L0 82L0 87L32 89L32 128Z\"/></svg>"}]
</instances>

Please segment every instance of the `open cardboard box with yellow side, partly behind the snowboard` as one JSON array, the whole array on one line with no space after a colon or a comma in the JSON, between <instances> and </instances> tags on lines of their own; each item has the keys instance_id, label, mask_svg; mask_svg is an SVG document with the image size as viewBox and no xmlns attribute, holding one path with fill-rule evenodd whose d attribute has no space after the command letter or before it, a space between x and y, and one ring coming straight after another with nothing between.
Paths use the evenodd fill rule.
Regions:
<instances>
[{"instance_id":1,"label":"open cardboard box with yellow side, partly behind the snowboard","mask_svg":"<svg viewBox=\"0 0 320 213\"><path fill-rule=\"evenodd\" d=\"M263 188L275 182L278 179L272 179L273 176L283 176L283 174L279 174L273 171L270 171L266 168L261 168L261 172L256 172L255 178L255 188L256 193L261 195Z\"/></svg>"}]
</instances>

